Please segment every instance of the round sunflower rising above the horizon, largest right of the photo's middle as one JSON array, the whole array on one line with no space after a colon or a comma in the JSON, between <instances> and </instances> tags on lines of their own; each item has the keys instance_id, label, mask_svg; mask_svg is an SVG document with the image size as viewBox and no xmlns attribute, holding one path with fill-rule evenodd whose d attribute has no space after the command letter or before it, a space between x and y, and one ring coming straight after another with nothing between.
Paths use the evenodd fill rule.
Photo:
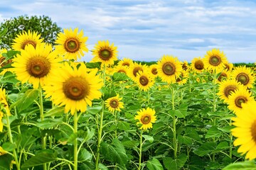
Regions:
<instances>
[{"instance_id":1,"label":"round sunflower rising above the horizon, largest right of the photo's middle","mask_svg":"<svg viewBox=\"0 0 256 170\"><path fill-rule=\"evenodd\" d=\"M167 83L175 83L176 78L181 74L181 62L177 57L171 55L164 55L161 60L157 62L157 72L162 81Z\"/></svg>"}]
</instances>

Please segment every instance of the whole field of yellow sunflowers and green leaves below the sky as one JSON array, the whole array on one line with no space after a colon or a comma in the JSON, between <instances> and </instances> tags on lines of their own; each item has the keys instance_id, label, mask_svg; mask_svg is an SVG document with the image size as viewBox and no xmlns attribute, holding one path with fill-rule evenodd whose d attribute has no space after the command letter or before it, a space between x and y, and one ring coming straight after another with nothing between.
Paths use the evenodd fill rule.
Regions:
<instances>
[{"instance_id":1,"label":"whole field of yellow sunflowers and green leaves below the sky","mask_svg":"<svg viewBox=\"0 0 256 170\"><path fill-rule=\"evenodd\" d=\"M146 65L86 41L30 30L1 49L1 170L256 169L255 64L211 49Z\"/></svg>"}]
</instances>

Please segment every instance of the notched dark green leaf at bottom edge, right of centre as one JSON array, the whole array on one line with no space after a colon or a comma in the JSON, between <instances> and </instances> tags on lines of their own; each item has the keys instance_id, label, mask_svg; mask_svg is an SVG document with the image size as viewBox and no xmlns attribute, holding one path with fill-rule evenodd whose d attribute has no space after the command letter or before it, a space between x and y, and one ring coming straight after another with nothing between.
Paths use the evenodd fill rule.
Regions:
<instances>
[{"instance_id":1,"label":"notched dark green leaf at bottom edge, right of centre","mask_svg":"<svg viewBox=\"0 0 256 170\"><path fill-rule=\"evenodd\" d=\"M177 157L177 159L172 159L171 157L164 158L164 166L168 170L179 170L184 166L187 160L186 154L181 154Z\"/></svg>"}]
</instances>

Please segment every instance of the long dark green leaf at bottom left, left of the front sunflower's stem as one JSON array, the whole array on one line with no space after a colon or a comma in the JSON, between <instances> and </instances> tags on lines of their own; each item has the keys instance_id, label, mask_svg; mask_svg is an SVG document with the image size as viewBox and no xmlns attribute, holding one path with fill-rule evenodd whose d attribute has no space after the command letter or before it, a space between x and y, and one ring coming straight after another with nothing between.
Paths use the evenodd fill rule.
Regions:
<instances>
[{"instance_id":1,"label":"long dark green leaf at bottom left, left of the front sunflower's stem","mask_svg":"<svg viewBox=\"0 0 256 170\"><path fill-rule=\"evenodd\" d=\"M54 162L55 160L57 160L57 152L52 149L44 149L36 154L34 157L31 157L31 159L28 159L21 167L23 169L26 169L48 162Z\"/></svg>"}]
</instances>

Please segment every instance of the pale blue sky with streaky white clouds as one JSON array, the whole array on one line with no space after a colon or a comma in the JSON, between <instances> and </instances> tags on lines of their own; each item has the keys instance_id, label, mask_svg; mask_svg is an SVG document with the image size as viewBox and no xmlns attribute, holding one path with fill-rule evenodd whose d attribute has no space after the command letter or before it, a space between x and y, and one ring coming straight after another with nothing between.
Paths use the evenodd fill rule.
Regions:
<instances>
[{"instance_id":1,"label":"pale blue sky with streaky white clouds","mask_svg":"<svg viewBox=\"0 0 256 170\"><path fill-rule=\"evenodd\" d=\"M0 1L0 22L25 14L82 29L89 50L98 40L114 42L120 60L191 62L218 48L229 62L256 62L256 0Z\"/></svg>"}]
</instances>

